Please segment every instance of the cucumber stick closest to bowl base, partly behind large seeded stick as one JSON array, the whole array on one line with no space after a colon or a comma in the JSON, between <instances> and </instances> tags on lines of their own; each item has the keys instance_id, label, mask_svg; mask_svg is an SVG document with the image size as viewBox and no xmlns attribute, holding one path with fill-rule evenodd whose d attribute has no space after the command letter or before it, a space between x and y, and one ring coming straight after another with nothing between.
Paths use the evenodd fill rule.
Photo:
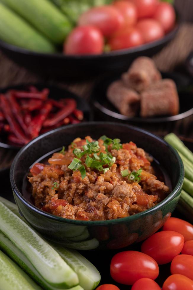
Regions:
<instances>
[{"instance_id":1,"label":"cucumber stick closest to bowl base, partly behind large seeded stick","mask_svg":"<svg viewBox=\"0 0 193 290\"><path fill-rule=\"evenodd\" d=\"M65 260L65 262L77 273L80 286L84 290L95 289L99 284L101 276L99 271L80 253L72 249L53 244L54 249Z\"/></svg>"}]
</instances>

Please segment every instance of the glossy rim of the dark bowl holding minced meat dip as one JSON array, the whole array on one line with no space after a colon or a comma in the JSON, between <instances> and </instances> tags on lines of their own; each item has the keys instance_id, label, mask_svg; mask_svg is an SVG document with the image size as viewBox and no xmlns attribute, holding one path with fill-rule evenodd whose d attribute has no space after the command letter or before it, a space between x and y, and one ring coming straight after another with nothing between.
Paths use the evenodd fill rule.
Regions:
<instances>
[{"instance_id":1,"label":"glossy rim of the dark bowl holding minced meat dip","mask_svg":"<svg viewBox=\"0 0 193 290\"><path fill-rule=\"evenodd\" d=\"M158 140L159 142L163 143L165 146L167 146L170 151L177 157L178 160L178 166L180 169L180 173L179 173L179 179L178 182L175 186L175 188L171 191L171 193L160 203L158 203L157 205L155 205L154 207L145 210L143 212L139 212L135 215L131 215L128 216L126 218L120 218L120 219L113 219L113 220L96 220L96 221L84 221L84 220L71 220L71 219L67 219L67 218L62 218L62 217L58 217L55 215L52 215L50 213L44 212L43 210L40 210L39 208L37 208L36 206L34 206L33 204L31 204L30 202L28 202L27 199L25 199L25 197L20 193L19 189L17 188L16 184L15 184L15 178L14 178L14 171L15 171L15 165L17 164L17 160L18 158L22 155L22 153L30 146L32 146L34 143L36 143L36 141L38 141L39 139L44 138L45 136L49 136L52 133L58 132L58 131L62 131L64 128L73 128L74 126L76 127L81 127L81 126L92 126L92 125L111 125L111 126L115 126L115 125L119 125L122 126L124 128L128 128L134 131L138 131L140 133L145 133L148 136L153 137L154 139ZM10 169L10 182L11 182L11 186L12 186L12 190L14 192L14 194L17 196L17 198L20 199L20 201L25 204L28 208L30 208L31 210L35 211L36 213L44 216L45 218L49 218L58 222L62 222L62 223L68 223L68 224L74 224L74 225L85 225L85 226L92 226L92 225L110 225L110 224L119 224L119 223L124 223L124 222L131 222L133 220L138 219L141 216L146 216L148 214L151 214L154 211L157 211L159 208L161 208L162 206L164 206L167 202L169 202L171 199L173 199L176 194L181 190L182 185L183 185L183 180L184 180L184 165L183 162L178 154L178 152L176 151L176 149L172 148L171 145L169 145L163 138L152 134L144 129L141 128L137 128L135 126L132 125L128 125L128 124L123 124L123 123L116 123L116 122L83 122L80 124L75 124L75 125L67 125L65 127L60 127L60 128L56 128L53 129L52 131L46 132L44 134L41 134L40 136L38 136L37 138L33 139L32 141L30 141L28 144L26 144L24 147L22 147L22 149L20 149L20 151L17 153L17 155L15 156L13 162L12 162L12 166Z\"/></svg>"}]
</instances>

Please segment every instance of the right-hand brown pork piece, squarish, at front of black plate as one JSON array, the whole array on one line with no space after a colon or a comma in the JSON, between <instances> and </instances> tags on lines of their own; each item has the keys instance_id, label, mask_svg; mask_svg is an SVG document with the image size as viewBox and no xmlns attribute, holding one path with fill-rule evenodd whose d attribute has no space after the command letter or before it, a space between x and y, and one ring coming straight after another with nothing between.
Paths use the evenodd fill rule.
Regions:
<instances>
[{"instance_id":1,"label":"right-hand brown pork piece, squarish, at front of black plate","mask_svg":"<svg viewBox=\"0 0 193 290\"><path fill-rule=\"evenodd\" d=\"M177 115L179 97L173 80L163 79L141 93L141 117Z\"/></svg>"}]
</instances>

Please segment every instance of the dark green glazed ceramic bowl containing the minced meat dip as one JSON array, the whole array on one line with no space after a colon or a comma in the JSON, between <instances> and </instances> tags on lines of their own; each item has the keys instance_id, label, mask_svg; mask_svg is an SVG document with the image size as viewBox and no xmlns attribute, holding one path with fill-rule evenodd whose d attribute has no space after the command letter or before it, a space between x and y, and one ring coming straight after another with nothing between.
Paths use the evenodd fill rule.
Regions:
<instances>
[{"instance_id":1,"label":"dark green glazed ceramic bowl containing the minced meat dip","mask_svg":"<svg viewBox=\"0 0 193 290\"><path fill-rule=\"evenodd\" d=\"M171 194L149 210L115 220L80 221L60 218L46 213L22 195L22 185L29 167L42 160L45 154L58 151L76 137L87 135L98 139L102 135L133 141L152 154L164 174L169 178ZM90 122L69 125L49 131L23 147L15 157L10 170L10 181L20 213L46 238L74 249L116 249L141 241L162 227L178 203L184 168L178 153L163 139L147 131L118 123ZM167 183L167 182L166 182Z\"/></svg>"}]
</instances>

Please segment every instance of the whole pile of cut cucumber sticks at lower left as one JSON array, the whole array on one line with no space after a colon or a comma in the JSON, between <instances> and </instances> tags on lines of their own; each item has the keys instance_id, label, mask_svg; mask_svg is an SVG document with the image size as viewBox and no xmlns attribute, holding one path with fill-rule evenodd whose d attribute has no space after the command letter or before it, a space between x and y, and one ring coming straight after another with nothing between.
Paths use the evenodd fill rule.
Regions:
<instances>
[{"instance_id":1,"label":"whole pile of cut cucumber sticks at lower left","mask_svg":"<svg viewBox=\"0 0 193 290\"><path fill-rule=\"evenodd\" d=\"M100 282L100 273L88 260L75 250L42 239L20 216L17 206L2 197L0 250L9 256L0 251L1 290L92 290Z\"/></svg>"}]
</instances>

